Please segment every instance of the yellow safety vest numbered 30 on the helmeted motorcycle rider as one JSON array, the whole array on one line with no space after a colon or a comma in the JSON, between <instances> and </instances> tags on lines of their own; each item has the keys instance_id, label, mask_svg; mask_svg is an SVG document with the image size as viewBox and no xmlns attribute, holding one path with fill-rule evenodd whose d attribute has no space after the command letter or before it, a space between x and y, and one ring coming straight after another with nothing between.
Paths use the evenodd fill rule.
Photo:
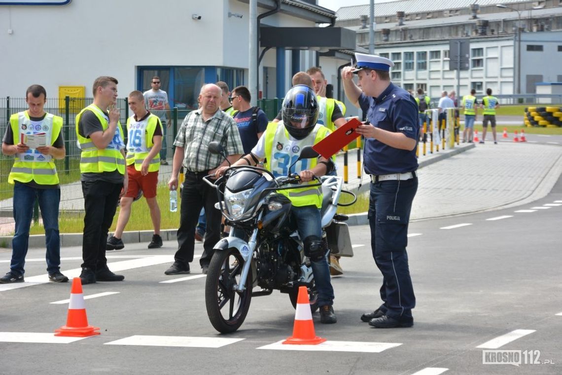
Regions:
<instances>
[{"instance_id":1,"label":"yellow safety vest numbered 30 on the helmeted motorcycle rider","mask_svg":"<svg viewBox=\"0 0 562 375\"><path fill-rule=\"evenodd\" d=\"M270 171L278 171L278 174L287 175L288 168L293 164L300 154L302 147L311 146L320 142L322 139L330 134L330 130L323 125L316 124L312 132L305 138L292 144L292 150L288 150L289 145L289 132L285 129L283 121L278 123L269 123L268 128L265 130L263 137L265 137L265 157L266 163L264 168ZM297 162L292 170L298 174L302 170L311 170L316 165L318 159L303 159ZM315 180L303 184L315 184ZM311 206L314 205L318 208L322 206L322 188L319 186L302 187L296 189L279 190L289 200L293 206Z\"/></svg>"}]
</instances>

